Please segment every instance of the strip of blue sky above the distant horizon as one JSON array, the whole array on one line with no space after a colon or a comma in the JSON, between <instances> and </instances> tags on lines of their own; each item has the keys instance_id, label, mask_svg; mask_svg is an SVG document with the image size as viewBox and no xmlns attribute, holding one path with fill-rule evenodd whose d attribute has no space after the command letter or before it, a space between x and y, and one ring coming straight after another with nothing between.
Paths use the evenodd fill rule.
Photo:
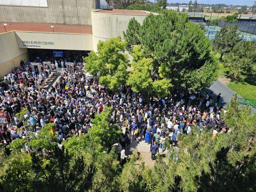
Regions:
<instances>
[{"instance_id":1,"label":"strip of blue sky above the distant horizon","mask_svg":"<svg viewBox=\"0 0 256 192\"><path fill-rule=\"evenodd\" d=\"M192 0L194 2L194 0ZM168 0L170 3L188 3L189 0ZM209 3L209 4L219 4L224 3L227 5L248 5L252 6L254 4L254 0L197 0L198 3Z\"/></svg>"}]
</instances>

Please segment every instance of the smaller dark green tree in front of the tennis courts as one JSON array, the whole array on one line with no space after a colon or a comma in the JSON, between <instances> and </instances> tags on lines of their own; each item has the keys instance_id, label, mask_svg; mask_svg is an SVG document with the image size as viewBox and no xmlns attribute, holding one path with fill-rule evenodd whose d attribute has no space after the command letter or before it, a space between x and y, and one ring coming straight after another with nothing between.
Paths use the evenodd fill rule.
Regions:
<instances>
[{"instance_id":1,"label":"smaller dark green tree in front of the tennis courts","mask_svg":"<svg viewBox=\"0 0 256 192\"><path fill-rule=\"evenodd\" d=\"M220 53L219 60L222 60L224 54L232 51L232 48L242 40L239 37L239 33L237 31L237 25L224 25L217 32L214 38L214 46L217 52Z\"/></svg>"}]
</instances>

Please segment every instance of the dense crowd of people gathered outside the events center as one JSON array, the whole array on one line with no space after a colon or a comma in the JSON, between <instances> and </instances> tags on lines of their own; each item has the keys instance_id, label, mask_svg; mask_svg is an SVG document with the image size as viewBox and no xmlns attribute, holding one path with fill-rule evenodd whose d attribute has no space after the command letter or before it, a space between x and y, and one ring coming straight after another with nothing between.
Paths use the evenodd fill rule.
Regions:
<instances>
[{"instance_id":1,"label":"dense crowd of people gathered outside the events center","mask_svg":"<svg viewBox=\"0 0 256 192\"><path fill-rule=\"evenodd\" d=\"M37 134L49 122L54 122L61 144L69 137L86 134L92 127L92 119L106 106L112 107L111 123L123 130L118 140L122 163L134 140L150 145L155 159L158 148L164 152L178 147L179 135L190 134L193 129L213 128L212 137L231 131L221 119L224 109L219 107L220 94L215 101L212 94L180 89L165 98L151 97L146 101L131 86L122 85L117 92L108 90L86 75L84 65L75 63L74 72L65 71L49 90L39 88L50 73L49 66L39 73L29 63L22 63L13 73L5 75L0 84L1 144L25 138L25 124L30 127L28 131ZM24 120L15 116L22 108L27 109ZM24 148L31 151L29 143Z\"/></svg>"}]
</instances>

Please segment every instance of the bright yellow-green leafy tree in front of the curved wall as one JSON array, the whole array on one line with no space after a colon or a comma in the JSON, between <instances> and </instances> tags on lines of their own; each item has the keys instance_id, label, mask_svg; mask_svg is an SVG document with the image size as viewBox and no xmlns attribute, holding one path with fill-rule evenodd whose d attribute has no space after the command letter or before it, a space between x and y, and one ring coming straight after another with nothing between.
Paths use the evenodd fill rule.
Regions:
<instances>
[{"instance_id":1,"label":"bright yellow-green leafy tree in front of the curved wall","mask_svg":"<svg viewBox=\"0 0 256 192\"><path fill-rule=\"evenodd\" d=\"M98 52L91 51L84 58L86 72L99 76L99 83L110 89L125 84L128 78L127 67L130 66L128 55L124 53L125 48L126 42L120 36L106 42L99 41Z\"/></svg>"}]
</instances>

